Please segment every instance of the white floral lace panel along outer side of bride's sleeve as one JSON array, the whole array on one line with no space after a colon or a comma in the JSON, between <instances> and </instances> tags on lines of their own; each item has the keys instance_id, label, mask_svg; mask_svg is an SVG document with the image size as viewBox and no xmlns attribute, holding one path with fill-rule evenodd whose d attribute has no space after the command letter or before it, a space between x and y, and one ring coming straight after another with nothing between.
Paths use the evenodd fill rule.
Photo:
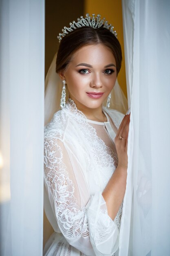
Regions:
<instances>
[{"instance_id":1,"label":"white floral lace panel along outer side of bride's sleeve","mask_svg":"<svg viewBox=\"0 0 170 256\"><path fill-rule=\"evenodd\" d=\"M89 236L85 216L86 208L80 210L74 196L74 186L69 179L66 165L62 162L62 149L54 138L44 138L44 172L51 189L60 228L68 238ZM46 157L48 156L48 157Z\"/></svg>"}]
</instances>

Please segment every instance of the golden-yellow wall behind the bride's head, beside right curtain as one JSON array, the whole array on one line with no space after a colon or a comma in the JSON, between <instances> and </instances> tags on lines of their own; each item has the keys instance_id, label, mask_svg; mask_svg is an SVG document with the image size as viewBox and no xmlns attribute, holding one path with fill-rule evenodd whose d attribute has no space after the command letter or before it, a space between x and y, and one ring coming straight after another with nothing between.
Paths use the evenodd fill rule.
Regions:
<instances>
[{"instance_id":1,"label":"golden-yellow wall behind the bride's head, beside right curtain","mask_svg":"<svg viewBox=\"0 0 170 256\"><path fill-rule=\"evenodd\" d=\"M125 96L127 97L121 0L84 0L84 15L86 13L89 13L90 16L92 13L95 13L96 15L100 14L101 18L106 18L108 20L108 24L111 23L117 32L117 38L121 44L123 56L118 81Z\"/></svg>"}]
</instances>

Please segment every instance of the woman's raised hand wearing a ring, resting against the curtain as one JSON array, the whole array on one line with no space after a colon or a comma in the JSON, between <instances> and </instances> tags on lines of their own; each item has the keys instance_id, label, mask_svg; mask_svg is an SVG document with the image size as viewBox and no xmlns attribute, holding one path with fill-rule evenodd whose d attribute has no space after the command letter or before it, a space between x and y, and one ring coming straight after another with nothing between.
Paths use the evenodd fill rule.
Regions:
<instances>
[{"instance_id":1,"label":"woman's raised hand wearing a ring, resting against the curtain","mask_svg":"<svg viewBox=\"0 0 170 256\"><path fill-rule=\"evenodd\" d=\"M119 130L117 131L117 135L115 137L115 146L117 150L118 156L118 166L126 168L128 167L128 132L129 132L129 123L130 123L130 114L125 115L123 120L121 121ZM124 139L120 139L123 137Z\"/></svg>"}]
</instances>

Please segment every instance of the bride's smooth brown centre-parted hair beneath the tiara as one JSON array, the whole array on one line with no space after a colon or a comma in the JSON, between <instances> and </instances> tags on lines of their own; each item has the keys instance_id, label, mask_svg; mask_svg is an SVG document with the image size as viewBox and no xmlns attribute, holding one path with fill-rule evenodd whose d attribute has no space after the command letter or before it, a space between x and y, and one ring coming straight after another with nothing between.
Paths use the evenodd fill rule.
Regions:
<instances>
[{"instance_id":1,"label":"bride's smooth brown centre-parted hair beneath the tiara","mask_svg":"<svg viewBox=\"0 0 170 256\"><path fill-rule=\"evenodd\" d=\"M110 48L116 61L117 74L121 68L122 54L118 39L106 28L80 27L62 38L56 60L56 72L65 70L73 54L85 45L103 44Z\"/></svg>"}]
</instances>

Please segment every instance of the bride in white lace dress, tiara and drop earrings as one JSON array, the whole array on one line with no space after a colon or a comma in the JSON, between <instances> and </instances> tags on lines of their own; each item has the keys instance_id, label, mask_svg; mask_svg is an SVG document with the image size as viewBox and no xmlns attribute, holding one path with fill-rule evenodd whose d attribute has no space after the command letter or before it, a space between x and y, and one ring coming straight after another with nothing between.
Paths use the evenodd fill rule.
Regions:
<instances>
[{"instance_id":1,"label":"bride in white lace dress, tiara and drop earrings","mask_svg":"<svg viewBox=\"0 0 170 256\"><path fill-rule=\"evenodd\" d=\"M43 255L118 255L130 112L109 106L121 46L99 15L77 20L58 37L61 110L44 128L44 210L54 232Z\"/></svg>"}]
</instances>

